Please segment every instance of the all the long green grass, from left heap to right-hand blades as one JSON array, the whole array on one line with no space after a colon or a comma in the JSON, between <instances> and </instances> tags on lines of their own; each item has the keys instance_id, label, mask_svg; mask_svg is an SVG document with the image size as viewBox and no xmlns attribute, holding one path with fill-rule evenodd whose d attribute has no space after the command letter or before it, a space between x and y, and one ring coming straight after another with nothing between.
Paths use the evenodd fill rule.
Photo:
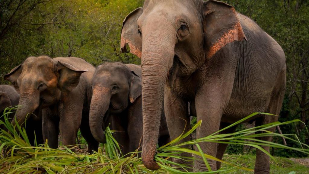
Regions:
<instances>
[{"instance_id":1,"label":"all the long green grass, from left heap to right-hand blades","mask_svg":"<svg viewBox=\"0 0 309 174\"><path fill-rule=\"evenodd\" d=\"M203 153L198 145L200 142L217 142L252 146L264 151L274 161L276 161L276 159L271 154L263 150L261 146L290 149L309 154L309 146L299 142L296 135L281 135L267 131L267 129L276 127L277 125L295 124L300 122L300 120L293 120L284 123L275 122L235 133L218 134L219 132L231 126L235 126L236 124L239 124L256 114L269 115L266 113L254 113L227 128L213 133L210 136L179 143L183 138L189 136L194 130L198 131L199 126L202 124L202 122L199 121L190 131L183 133L175 140L172 140L170 143L157 149L155 160L159 166L161 166L161 169L158 171L150 171L143 166L142 159L137 157L137 151L130 154L121 153L119 144L112 136L114 131L110 130L109 127L107 127L105 131L107 143L101 146L98 152L94 152L93 154L81 152L76 149L78 146L70 148L61 146L58 149L51 149L48 147L47 142L42 145L36 144L36 146L31 146L24 127L21 127L18 124L16 124L15 127L11 125L11 119L8 118L8 115L11 112L14 112L14 109L6 109L4 115L2 115L3 118L0 120L0 124L7 129L0 130L0 150L2 152L0 159L0 173L193 173L186 171L189 167L174 163L171 158L193 161L194 156L197 155L202 157L205 166L209 168L209 172L199 173L223 174L231 173L236 170L253 171L252 169L241 167L239 165L237 166ZM288 147L281 144L256 139L257 137L265 136L284 137L291 141L298 142L300 148ZM184 146L187 145L195 145L199 151L184 148ZM194 156L192 156L192 158L180 157L178 154L181 152L192 153ZM216 172L211 171L207 159L220 161L228 167L222 167Z\"/></svg>"}]
</instances>

